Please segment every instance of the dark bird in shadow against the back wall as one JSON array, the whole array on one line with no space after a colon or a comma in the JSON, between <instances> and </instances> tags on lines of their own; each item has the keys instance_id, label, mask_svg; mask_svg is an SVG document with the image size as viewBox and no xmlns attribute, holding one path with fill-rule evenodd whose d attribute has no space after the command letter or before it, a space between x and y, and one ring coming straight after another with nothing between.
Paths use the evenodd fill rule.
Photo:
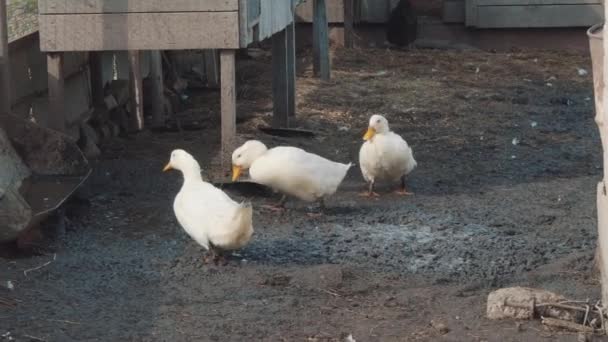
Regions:
<instances>
[{"instance_id":1,"label":"dark bird in shadow against the back wall","mask_svg":"<svg viewBox=\"0 0 608 342\"><path fill-rule=\"evenodd\" d=\"M416 40L418 16L410 0L400 0L391 11L386 25L386 39L398 46L407 46Z\"/></svg>"}]
</instances>

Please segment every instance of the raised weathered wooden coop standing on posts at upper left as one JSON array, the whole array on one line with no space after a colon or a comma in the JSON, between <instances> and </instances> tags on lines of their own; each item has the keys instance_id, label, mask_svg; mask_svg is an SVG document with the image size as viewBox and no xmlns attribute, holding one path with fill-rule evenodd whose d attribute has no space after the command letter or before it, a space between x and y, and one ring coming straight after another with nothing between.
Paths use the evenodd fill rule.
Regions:
<instances>
[{"instance_id":1,"label":"raised weathered wooden coop standing on posts at upper left","mask_svg":"<svg viewBox=\"0 0 608 342\"><path fill-rule=\"evenodd\" d=\"M64 106L63 53L128 50L138 70L140 50L219 50L222 103L222 156L227 162L236 135L235 51L272 37L274 120L288 127L295 114L294 11L302 0L39 0L40 47L48 53L49 92L54 127L62 129ZM319 12L325 0L315 0ZM316 60L329 77L327 21L317 22L322 46ZM324 34L324 36L323 36ZM154 62L153 62L154 63ZM159 62L153 67L159 73ZM138 72L132 73L132 97L141 96ZM92 77L99 80L100 77ZM214 77L217 81L217 77ZM99 89L100 85L92 85ZM162 86L155 87L162 97ZM143 127L140 101L134 101L135 126Z\"/></svg>"}]
</instances>

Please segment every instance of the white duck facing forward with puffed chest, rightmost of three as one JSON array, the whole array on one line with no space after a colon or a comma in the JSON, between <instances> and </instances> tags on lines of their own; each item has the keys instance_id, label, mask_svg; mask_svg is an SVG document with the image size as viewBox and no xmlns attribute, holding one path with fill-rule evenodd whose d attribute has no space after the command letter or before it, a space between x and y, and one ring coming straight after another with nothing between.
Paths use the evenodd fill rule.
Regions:
<instances>
[{"instance_id":1,"label":"white duck facing forward with puffed chest, rightmost of three","mask_svg":"<svg viewBox=\"0 0 608 342\"><path fill-rule=\"evenodd\" d=\"M388 120L382 115L373 115L363 136L363 146L359 150L361 173L369 183L367 196L379 196L374 192L377 180L395 182L401 180L401 195L410 195L405 190L405 176L412 172L417 163L412 148L399 135L391 132Z\"/></svg>"}]
</instances>

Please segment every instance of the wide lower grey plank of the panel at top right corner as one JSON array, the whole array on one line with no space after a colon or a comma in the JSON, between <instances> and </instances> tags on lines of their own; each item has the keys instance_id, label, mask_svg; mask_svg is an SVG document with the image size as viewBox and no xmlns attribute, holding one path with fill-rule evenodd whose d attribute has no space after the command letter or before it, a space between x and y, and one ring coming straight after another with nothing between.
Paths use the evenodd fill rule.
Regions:
<instances>
[{"instance_id":1,"label":"wide lower grey plank of the panel at top right corner","mask_svg":"<svg viewBox=\"0 0 608 342\"><path fill-rule=\"evenodd\" d=\"M480 6L476 27L581 27L603 20L601 5Z\"/></svg>"}]
</instances>

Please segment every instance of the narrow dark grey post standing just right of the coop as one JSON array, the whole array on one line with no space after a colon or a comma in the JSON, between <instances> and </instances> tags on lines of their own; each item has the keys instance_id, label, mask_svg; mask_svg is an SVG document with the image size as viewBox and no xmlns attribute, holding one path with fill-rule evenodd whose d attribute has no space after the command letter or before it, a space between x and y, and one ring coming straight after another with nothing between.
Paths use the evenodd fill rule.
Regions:
<instances>
[{"instance_id":1,"label":"narrow dark grey post standing just right of the coop","mask_svg":"<svg viewBox=\"0 0 608 342\"><path fill-rule=\"evenodd\" d=\"M313 72L322 80L329 80L329 34L325 0L313 0Z\"/></svg>"}]
</instances>

